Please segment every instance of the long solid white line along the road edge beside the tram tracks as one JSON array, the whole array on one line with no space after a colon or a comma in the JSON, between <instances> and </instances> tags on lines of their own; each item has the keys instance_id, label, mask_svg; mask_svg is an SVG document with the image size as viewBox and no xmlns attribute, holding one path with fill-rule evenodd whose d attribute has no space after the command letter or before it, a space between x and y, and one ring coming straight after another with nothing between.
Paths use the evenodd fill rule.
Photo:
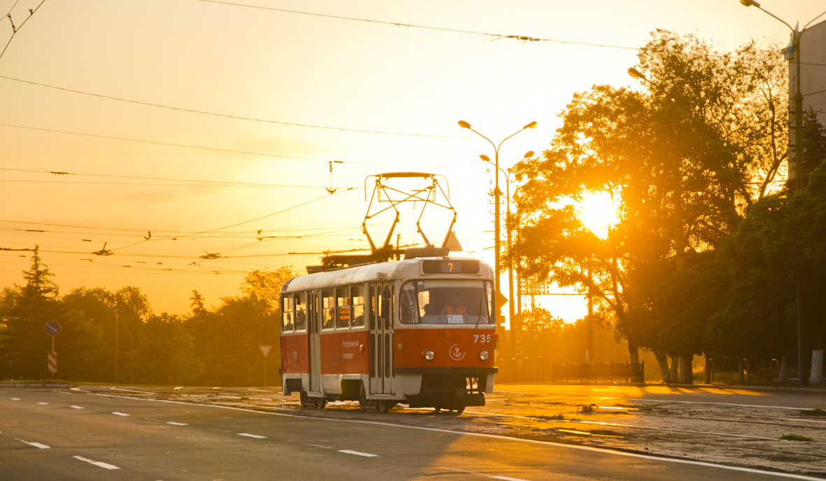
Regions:
<instances>
[{"instance_id":1,"label":"long solid white line along the road edge beside the tram tracks","mask_svg":"<svg viewBox=\"0 0 826 481\"><path fill-rule=\"evenodd\" d=\"M92 393L89 391L83 391L84 393L89 393L94 396L111 396L111 394L99 394L99 393ZM554 443L550 441L539 441L539 440L530 440L530 439L522 439L510 436L499 436L495 434L487 434L482 432L465 432L465 431L452 431L449 429L439 429L436 427L425 427L425 426L404 426L401 424L392 424L391 422L379 422L379 421L362 421L356 419L332 419L330 417L307 417L307 416L298 416L295 414L287 414L284 412L263 412L263 411L254 411L253 409L244 409L243 407L230 407L230 406L216 406L214 404L201 404L198 402L183 402L183 401L170 401L169 399L145 399L145 398L131 398L135 399L136 401L148 401L148 402L169 402L170 404L183 404L185 406L201 406L201 407L213 407L219 409L230 409L232 411L242 411L242 412L254 412L256 414L263 414L268 416L281 416L281 417L293 417L298 419L305 419L305 420L314 420L314 421L328 421L328 422L353 422L358 424L368 424L373 426L388 426L388 427L395 427L401 429L416 429L420 431L431 431L431 432L442 432L448 434L454 434L457 436L474 436L474 437L483 437L488 439L496 439L501 441L510 441L510 442L522 442L522 443L529 443L534 445L546 445L546 446L553 446L558 449L569 449L569 450L583 450L583 451L590 451L596 453L602 453L605 455L615 455L615 456L625 456L629 458L636 458L639 460L651 460L660 463L675 463L675 464L689 464L692 466L703 466L705 468L714 468L714 469L724 469L729 471L738 471L741 473L750 473L750 474L762 474L765 476L775 476L777 478L786 478L786 479L804 479L805 481L824 481L823 478L814 478L812 476L806 476L804 474L792 474L792 473L779 473L776 471L766 471L762 469L753 469L753 468L743 468L740 466L729 466L726 464L714 464L705 461L695 461L695 460L679 460L676 458L667 458L663 456L654 456L654 455L643 455L639 453L629 453L626 451L618 451L618 450L609 450L605 448L596 448L593 446L583 446L583 445L566 445L562 443Z\"/></svg>"}]
</instances>

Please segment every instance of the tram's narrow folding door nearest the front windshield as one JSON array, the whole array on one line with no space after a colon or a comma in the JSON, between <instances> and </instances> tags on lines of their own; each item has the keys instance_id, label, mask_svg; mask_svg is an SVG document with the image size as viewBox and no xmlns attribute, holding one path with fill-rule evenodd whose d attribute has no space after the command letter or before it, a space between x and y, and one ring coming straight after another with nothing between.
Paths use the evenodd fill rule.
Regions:
<instances>
[{"instance_id":1,"label":"tram's narrow folding door nearest the front windshield","mask_svg":"<svg viewBox=\"0 0 826 481\"><path fill-rule=\"evenodd\" d=\"M370 284L370 393L393 393L393 284Z\"/></svg>"}]
</instances>

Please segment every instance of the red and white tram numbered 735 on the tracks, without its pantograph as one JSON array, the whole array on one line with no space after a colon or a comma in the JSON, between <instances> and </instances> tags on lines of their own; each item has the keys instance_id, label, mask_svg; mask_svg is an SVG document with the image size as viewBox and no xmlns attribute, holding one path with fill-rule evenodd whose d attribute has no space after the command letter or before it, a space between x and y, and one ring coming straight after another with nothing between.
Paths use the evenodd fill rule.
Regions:
<instances>
[{"instance_id":1,"label":"red and white tram numbered 735 on the tracks, without its pantograph","mask_svg":"<svg viewBox=\"0 0 826 481\"><path fill-rule=\"evenodd\" d=\"M284 394L462 412L493 392L493 271L414 257L301 275L281 290Z\"/></svg>"}]
</instances>

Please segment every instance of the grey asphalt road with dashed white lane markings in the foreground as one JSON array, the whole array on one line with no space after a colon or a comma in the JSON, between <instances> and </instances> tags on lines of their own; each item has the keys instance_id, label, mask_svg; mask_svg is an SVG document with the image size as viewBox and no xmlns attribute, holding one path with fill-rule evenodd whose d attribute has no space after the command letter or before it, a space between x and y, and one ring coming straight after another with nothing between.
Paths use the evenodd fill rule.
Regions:
<instances>
[{"instance_id":1,"label":"grey asphalt road with dashed white lane markings in the foreground","mask_svg":"<svg viewBox=\"0 0 826 481\"><path fill-rule=\"evenodd\" d=\"M708 481L778 476L790 477L376 421L66 389L0 389L2 480Z\"/></svg>"}]
</instances>

